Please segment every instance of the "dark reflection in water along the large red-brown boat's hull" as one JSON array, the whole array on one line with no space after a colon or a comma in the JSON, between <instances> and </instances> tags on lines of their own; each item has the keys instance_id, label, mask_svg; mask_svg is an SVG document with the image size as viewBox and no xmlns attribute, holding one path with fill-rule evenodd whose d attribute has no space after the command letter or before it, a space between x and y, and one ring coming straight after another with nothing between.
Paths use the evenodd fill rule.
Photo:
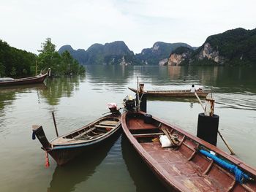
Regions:
<instances>
[{"instance_id":1,"label":"dark reflection in water along the large red-brown boat's hull","mask_svg":"<svg viewBox=\"0 0 256 192\"><path fill-rule=\"evenodd\" d=\"M141 159L124 134L121 137L121 151L129 175L136 186L136 191L167 191L148 166L146 166L146 163Z\"/></svg>"}]
</instances>

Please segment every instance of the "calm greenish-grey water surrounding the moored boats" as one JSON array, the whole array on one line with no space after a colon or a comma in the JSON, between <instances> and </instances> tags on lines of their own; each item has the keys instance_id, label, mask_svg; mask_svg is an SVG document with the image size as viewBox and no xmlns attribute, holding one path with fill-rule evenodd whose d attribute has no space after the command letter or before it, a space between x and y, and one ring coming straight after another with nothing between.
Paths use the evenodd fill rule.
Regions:
<instances>
[{"instance_id":1,"label":"calm greenish-grey water surrounding the moored boats","mask_svg":"<svg viewBox=\"0 0 256 192\"><path fill-rule=\"evenodd\" d=\"M137 76L148 90L213 88L219 130L238 158L256 167L255 74L252 68L88 66L85 77L0 88L0 191L165 191L122 135L67 166L50 158L48 169L39 141L31 139L33 124L55 137L51 112L65 134L108 112L108 102L122 107L124 97L134 95L127 87L135 88ZM148 113L194 135L200 112L196 99L148 101ZM220 138L217 145L227 152Z\"/></svg>"}]
</instances>

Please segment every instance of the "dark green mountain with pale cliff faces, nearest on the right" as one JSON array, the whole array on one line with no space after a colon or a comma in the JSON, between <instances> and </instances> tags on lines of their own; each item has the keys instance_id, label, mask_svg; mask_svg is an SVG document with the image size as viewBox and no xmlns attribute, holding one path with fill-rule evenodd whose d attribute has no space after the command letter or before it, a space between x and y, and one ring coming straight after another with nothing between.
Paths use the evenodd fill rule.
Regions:
<instances>
[{"instance_id":1,"label":"dark green mountain with pale cliff faces, nearest on the right","mask_svg":"<svg viewBox=\"0 0 256 192\"><path fill-rule=\"evenodd\" d=\"M195 65L256 65L256 28L246 30L244 28L236 28L225 31L222 34L216 34L208 37L206 42L197 50L182 57L183 53L170 55L168 64L179 58L179 64L195 64ZM182 62L181 60L186 62Z\"/></svg>"}]
</instances>

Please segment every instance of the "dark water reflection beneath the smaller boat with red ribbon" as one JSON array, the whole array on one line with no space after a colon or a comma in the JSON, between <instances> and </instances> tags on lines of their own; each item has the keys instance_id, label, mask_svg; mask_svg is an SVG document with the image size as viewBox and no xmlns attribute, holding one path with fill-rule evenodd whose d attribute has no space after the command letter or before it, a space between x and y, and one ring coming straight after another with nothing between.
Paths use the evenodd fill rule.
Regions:
<instances>
[{"instance_id":1,"label":"dark water reflection beneath the smaller boat with red ribbon","mask_svg":"<svg viewBox=\"0 0 256 192\"><path fill-rule=\"evenodd\" d=\"M56 166L48 192L75 191L76 185L84 183L96 172L97 166L108 155L110 148L120 136L120 131L105 142L104 145L92 148L64 166ZM100 181L99 181L100 183Z\"/></svg>"}]
</instances>

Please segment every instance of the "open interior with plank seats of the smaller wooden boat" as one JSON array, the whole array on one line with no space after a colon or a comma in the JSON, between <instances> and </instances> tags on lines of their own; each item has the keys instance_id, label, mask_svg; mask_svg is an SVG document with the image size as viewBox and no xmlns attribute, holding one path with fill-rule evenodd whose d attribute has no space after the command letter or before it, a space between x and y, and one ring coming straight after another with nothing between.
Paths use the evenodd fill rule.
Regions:
<instances>
[{"instance_id":1,"label":"open interior with plank seats of the smaller wooden boat","mask_svg":"<svg viewBox=\"0 0 256 192\"><path fill-rule=\"evenodd\" d=\"M120 124L119 118L103 118L97 122L84 126L72 133L62 137L57 137L50 143L52 145L78 144L80 142L91 142L99 137L104 137L105 134L112 131Z\"/></svg>"}]
</instances>

